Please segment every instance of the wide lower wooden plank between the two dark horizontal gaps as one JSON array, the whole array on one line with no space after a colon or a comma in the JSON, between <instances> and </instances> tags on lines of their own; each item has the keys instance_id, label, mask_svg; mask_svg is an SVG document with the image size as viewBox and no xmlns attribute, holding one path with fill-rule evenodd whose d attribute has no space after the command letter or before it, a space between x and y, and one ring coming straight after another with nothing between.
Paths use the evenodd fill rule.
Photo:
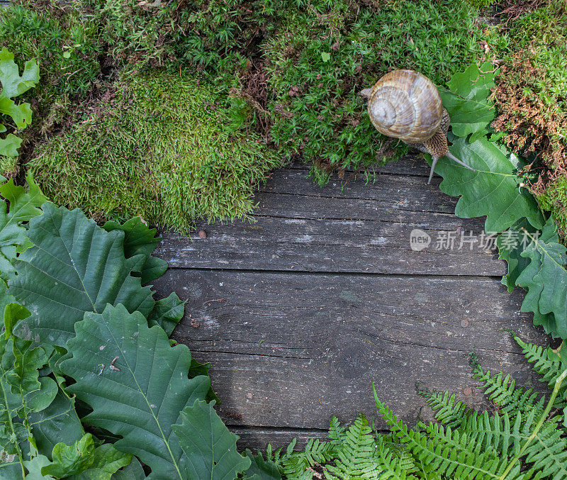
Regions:
<instances>
[{"instance_id":1,"label":"wide lower wooden plank between the two dark horizontal gaps","mask_svg":"<svg viewBox=\"0 0 567 480\"><path fill-rule=\"evenodd\" d=\"M468 353L522 384L529 367L502 329L544 342L519 313L520 292L484 277L169 269L156 284L188 299L174 338L213 364L229 425L325 429L331 415L360 411L378 420L373 381L410 422L424 405L416 381L485 405Z\"/></svg>"}]
</instances>

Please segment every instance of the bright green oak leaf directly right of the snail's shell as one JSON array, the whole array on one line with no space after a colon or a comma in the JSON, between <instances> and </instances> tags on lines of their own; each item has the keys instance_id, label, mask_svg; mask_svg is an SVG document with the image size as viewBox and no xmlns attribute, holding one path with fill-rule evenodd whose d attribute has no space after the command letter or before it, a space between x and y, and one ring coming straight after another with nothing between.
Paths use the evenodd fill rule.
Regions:
<instances>
[{"instance_id":1,"label":"bright green oak leaf directly right of the snail's shell","mask_svg":"<svg viewBox=\"0 0 567 480\"><path fill-rule=\"evenodd\" d=\"M438 87L443 106L451 117L451 130L458 137L473 134L471 143L485 135L486 127L495 117L493 102L488 100L490 89L495 86L492 65L486 62L479 68L470 65L464 72L456 73L447 82L449 90Z\"/></svg>"}]
</instances>

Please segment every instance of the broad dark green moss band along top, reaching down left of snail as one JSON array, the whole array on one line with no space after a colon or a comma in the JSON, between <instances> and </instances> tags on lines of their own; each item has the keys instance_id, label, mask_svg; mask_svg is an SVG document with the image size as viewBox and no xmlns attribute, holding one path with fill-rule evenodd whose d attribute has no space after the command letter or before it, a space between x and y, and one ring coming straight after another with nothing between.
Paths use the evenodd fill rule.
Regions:
<instances>
[{"instance_id":1,"label":"broad dark green moss band along top, reaching down left of snail","mask_svg":"<svg viewBox=\"0 0 567 480\"><path fill-rule=\"evenodd\" d=\"M369 167L408 150L383 144L359 90L395 68L443 82L478 60L484 38L466 0L174 0L159 9L135 0L87 3L115 61L181 65L226 94L245 91L256 111L242 118L235 102L231 116L258 126L254 113L262 111L283 155L312 162L320 184L333 169ZM267 94L257 95L250 74L268 82Z\"/></svg>"}]
</instances>

